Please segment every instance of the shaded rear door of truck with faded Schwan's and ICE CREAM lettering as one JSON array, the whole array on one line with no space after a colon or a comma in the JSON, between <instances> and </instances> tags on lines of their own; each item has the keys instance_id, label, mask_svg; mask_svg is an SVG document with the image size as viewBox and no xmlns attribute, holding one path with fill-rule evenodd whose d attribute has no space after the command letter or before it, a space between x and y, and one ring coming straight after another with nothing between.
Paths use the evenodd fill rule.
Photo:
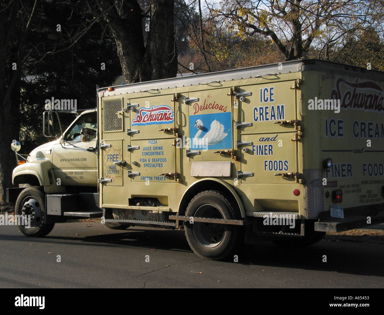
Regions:
<instances>
[{"instance_id":1,"label":"shaded rear door of truck with faded Schwan's and ICE CREAM lettering","mask_svg":"<svg viewBox=\"0 0 384 315\"><path fill-rule=\"evenodd\" d=\"M319 82L321 160L332 159L325 189L331 197L336 189L343 193L341 203L324 198L324 210L334 204L365 215L367 207L383 202L383 78L324 71Z\"/></svg>"}]
</instances>

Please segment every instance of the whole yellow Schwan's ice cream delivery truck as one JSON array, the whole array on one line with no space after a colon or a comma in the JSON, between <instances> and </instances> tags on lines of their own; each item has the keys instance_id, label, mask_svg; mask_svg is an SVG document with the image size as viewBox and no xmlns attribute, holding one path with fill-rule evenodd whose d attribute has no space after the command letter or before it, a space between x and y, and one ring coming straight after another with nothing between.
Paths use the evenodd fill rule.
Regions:
<instances>
[{"instance_id":1,"label":"whole yellow Schwan's ice cream delivery truck","mask_svg":"<svg viewBox=\"0 0 384 315\"><path fill-rule=\"evenodd\" d=\"M33 186L9 192L32 215L20 229L102 215L184 228L218 260L263 237L309 245L382 223L383 89L383 72L306 59L99 88L97 109L13 170Z\"/></svg>"}]
</instances>

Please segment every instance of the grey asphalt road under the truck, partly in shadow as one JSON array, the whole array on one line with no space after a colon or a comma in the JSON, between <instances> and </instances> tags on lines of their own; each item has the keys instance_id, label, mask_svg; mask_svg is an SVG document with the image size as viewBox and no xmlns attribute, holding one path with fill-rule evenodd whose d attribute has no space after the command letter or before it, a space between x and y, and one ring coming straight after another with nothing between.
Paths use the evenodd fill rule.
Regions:
<instances>
[{"instance_id":1,"label":"grey asphalt road under the truck, partly in shadow","mask_svg":"<svg viewBox=\"0 0 384 315\"><path fill-rule=\"evenodd\" d=\"M45 238L2 225L0 244L1 288L384 287L384 245L377 243L322 240L287 249L266 242L239 253L238 262L214 262L190 250L184 231L71 222Z\"/></svg>"}]
</instances>

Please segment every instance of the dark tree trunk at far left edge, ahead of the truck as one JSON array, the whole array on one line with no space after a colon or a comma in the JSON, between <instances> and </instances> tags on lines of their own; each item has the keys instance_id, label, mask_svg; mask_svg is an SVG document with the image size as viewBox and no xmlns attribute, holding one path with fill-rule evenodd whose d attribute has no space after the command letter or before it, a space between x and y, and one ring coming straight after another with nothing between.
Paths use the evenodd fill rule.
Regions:
<instances>
[{"instance_id":1,"label":"dark tree trunk at far left edge, ahead of the truck","mask_svg":"<svg viewBox=\"0 0 384 315\"><path fill-rule=\"evenodd\" d=\"M0 204L5 202L6 189L12 187L12 170L17 166L10 145L13 139L19 139L23 48L36 15L37 3L37 0L14 1L7 10L0 10L0 90L3 92L0 97ZM23 17L27 18L26 25ZM16 63L16 68L13 68L13 63Z\"/></svg>"}]
</instances>

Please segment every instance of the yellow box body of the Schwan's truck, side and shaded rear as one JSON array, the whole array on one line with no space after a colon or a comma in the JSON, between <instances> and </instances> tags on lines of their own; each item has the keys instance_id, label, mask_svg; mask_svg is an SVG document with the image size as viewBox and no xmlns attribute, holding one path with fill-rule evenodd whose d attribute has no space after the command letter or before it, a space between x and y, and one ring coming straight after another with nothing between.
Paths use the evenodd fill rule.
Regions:
<instances>
[{"instance_id":1,"label":"yellow box body of the Schwan's truck, side and shaded rear","mask_svg":"<svg viewBox=\"0 0 384 315\"><path fill-rule=\"evenodd\" d=\"M99 178L111 181L100 204L183 215L183 196L205 181L204 190L235 191L242 218L329 219L331 205L346 218L377 215L383 88L382 72L323 60L102 88L99 137L110 147L100 149Z\"/></svg>"}]
</instances>

